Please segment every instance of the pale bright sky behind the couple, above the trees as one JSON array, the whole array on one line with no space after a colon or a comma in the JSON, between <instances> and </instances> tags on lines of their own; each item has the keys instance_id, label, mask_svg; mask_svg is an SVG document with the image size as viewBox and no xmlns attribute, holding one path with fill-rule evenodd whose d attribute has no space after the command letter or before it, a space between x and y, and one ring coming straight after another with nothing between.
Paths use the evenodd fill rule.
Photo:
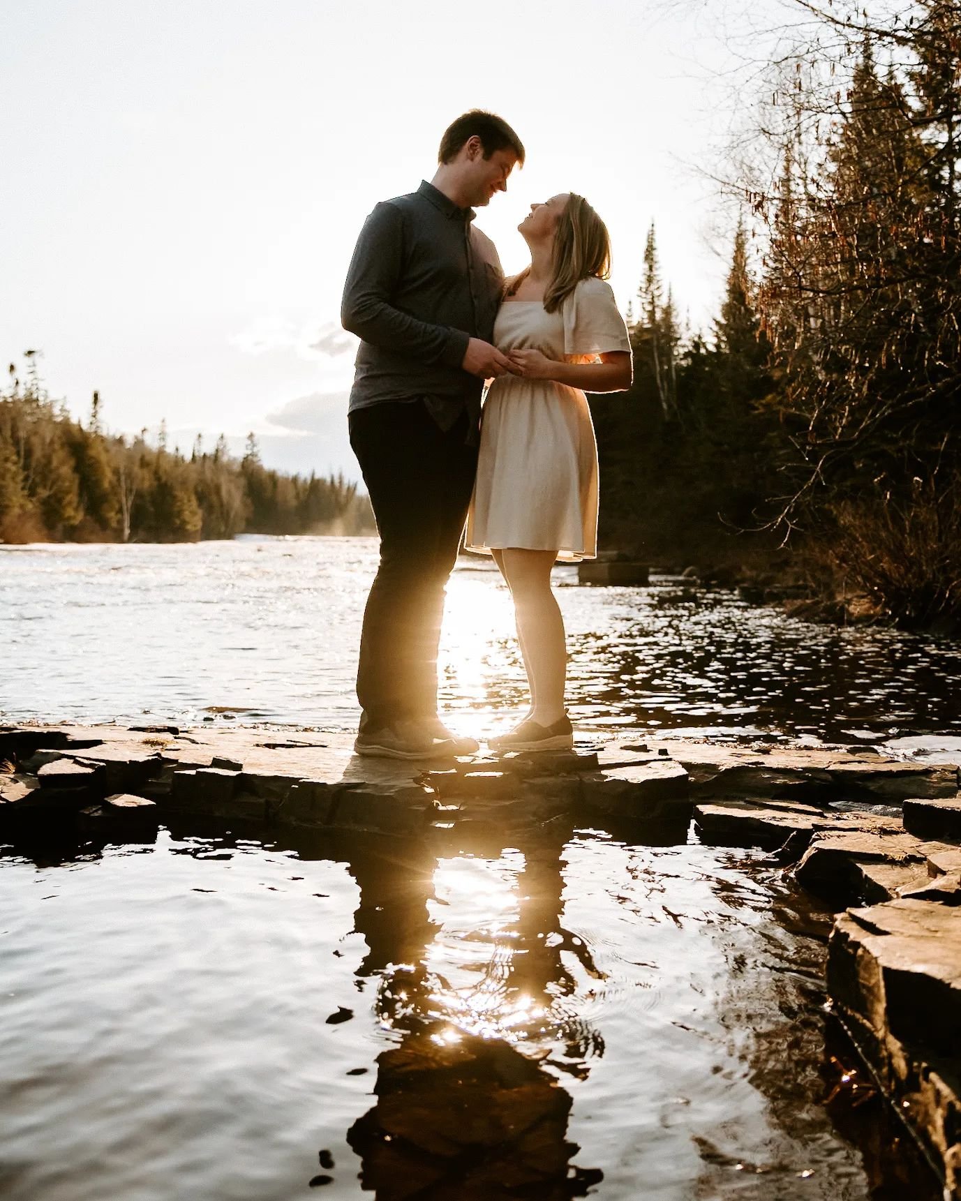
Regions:
<instances>
[{"instance_id":1,"label":"pale bright sky behind the couple, above the trees","mask_svg":"<svg viewBox=\"0 0 961 1201\"><path fill-rule=\"evenodd\" d=\"M478 225L508 270L532 201L608 222L626 309L656 222L664 277L708 327L728 245L698 174L717 132L705 65L723 0L0 0L0 357L43 351L77 414L199 431L268 464L357 468L357 233L430 178L444 126L491 108L527 148Z\"/></svg>"}]
</instances>

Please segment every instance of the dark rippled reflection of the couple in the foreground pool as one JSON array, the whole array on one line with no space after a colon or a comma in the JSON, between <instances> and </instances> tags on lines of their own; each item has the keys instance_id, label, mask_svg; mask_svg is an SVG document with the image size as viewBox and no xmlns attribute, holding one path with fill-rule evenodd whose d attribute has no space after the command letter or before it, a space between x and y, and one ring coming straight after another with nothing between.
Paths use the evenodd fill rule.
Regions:
<instances>
[{"instance_id":1,"label":"dark rippled reflection of the couple in the foreground pool","mask_svg":"<svg viewBox=\"0 0 961 1201\"><path fill-rule=\"evenodd\" d=\"M597 1036L565 1004L575 988L565 952L598 974L583 942L561 926L569 833L512 832L525 856L519 914L472 932L471 940L491 948L467 988L452 987L442 968L431 970L438 927L428 903L438 848L412 839L378 854L364 839L363 852L351 854L360 886L354 928L369 948L358 975L378 978L377 1014L400 1034L377 1058L376 1104L347 1135L364 1188L381 1201L561 1201L586 1196L601 1178L571 1165L578 1151L567 1139L572 1101L559 1083L562 1072L585 1076L598 1050ZM500 839L473 847L484 855L500 848Z\"/></svg>"}]
</instances>

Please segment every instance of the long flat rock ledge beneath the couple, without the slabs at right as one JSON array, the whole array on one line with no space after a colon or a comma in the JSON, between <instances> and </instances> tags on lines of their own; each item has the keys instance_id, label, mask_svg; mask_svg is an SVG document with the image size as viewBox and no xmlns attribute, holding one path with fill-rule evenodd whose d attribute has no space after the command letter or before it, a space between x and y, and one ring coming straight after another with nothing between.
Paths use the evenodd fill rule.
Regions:
<instances>
[{"instance_id":1,"label":"long flat rock ledge beneath the couple, without the slabs at right","mask_svg":"<svg viewBox=\"0 0 961 1201\"><path fill-rule=\"evenodd\" d=\"M356 755L346 734L18 725L0 727L2 764L0 823L80 813L89 829L165 812L380 833L561 813L686 829L693 808L685 766L640 743L402 763Z\"/></svg>"}]
</instances>

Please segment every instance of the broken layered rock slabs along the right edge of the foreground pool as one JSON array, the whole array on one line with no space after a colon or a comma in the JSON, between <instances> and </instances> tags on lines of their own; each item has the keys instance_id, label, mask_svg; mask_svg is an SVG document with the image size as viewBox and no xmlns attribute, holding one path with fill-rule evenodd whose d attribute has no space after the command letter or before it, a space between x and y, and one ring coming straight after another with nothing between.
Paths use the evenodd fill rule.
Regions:
<instances>
[{"instance_id":1,"label":"broken layered rock slabs along the right edge of the foreground pool","mask_svg":"<svg viewBox=\"0 0 961 1201\"><path fill-rule=\"evenodd\" d=\"M932 795L955 769L926 776L925 795L899 797L920 777L883 760L852 777L822 753L810 770L782 755L751 777L747 764L711 775L705 758L696 793L736 781L740 796L696 803L702 836L772 849L771 862L842 910L828 966L834 1014L945 1196L961 1197L961 797ZM866 805L865 791L885 803Z\"/></svg>"}]
</instances>

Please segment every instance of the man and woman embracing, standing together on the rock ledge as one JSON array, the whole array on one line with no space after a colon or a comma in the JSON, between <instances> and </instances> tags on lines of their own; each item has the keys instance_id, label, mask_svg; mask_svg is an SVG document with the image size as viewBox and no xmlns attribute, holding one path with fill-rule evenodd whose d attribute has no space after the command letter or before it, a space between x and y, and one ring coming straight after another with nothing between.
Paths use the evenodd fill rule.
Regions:
<instances>
[{"instance_id":1,"label":"man and woman embracing, standing together on the rock ledge","mask_svg":"<svg viewBox=\"0 0 961 1201\"><path fill-rule=\"evenodd\" d=\"M350 404L381 557L360 643L360 754L471 754L437 715L444 585L465 530L511 590L531 706L497 751L573 746L556 560L597 551L597 448L584 392L623 390L631 343L607 228L573 192L518 226L530 264L505 280L474 208L524 162L517 133L471 112L444 132L416 192L377 204L344 289L360 337ZM488 388L483 404L484 382Z\"/></svg>"}]
</instances>

